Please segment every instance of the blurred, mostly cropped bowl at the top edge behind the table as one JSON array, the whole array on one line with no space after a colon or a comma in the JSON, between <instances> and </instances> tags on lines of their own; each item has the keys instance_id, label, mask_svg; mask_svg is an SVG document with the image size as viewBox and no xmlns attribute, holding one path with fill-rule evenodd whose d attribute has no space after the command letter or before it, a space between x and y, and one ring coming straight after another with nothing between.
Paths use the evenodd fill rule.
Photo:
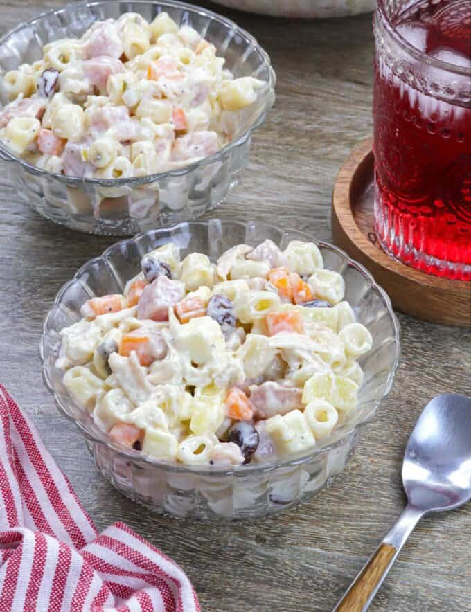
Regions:
<instances>
[{"instance_id":1,"label":"blurred, mostly cropped bowl at the top edge behind the table","mask_svg":"<svg viewBox=\"0 0 471 612\"><path fill-rule=\"evenodd\" d=\"M375 0L213 0L217 4L276 17L344 17L370 12Z\"/></svg>"}]
</instances>

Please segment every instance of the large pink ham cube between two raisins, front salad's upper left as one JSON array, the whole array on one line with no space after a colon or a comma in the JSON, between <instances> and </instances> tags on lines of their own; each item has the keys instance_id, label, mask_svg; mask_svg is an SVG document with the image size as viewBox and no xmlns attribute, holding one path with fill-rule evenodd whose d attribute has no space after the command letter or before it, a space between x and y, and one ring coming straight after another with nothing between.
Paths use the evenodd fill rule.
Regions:
<instances>
[{"instance_id":1,"label":"large pink ham cube between two raisins, front salad's upper left","mask_svg":"<svg viewBox=\"0 0 471 612\"><path fill-rule=\"evenodd\" d=\"M179 280L170 280L163 274L145 287L137 305L138 318L152 321L168 321L168 308L185 296L185 285Z\"/></svg>"}]
</instances>

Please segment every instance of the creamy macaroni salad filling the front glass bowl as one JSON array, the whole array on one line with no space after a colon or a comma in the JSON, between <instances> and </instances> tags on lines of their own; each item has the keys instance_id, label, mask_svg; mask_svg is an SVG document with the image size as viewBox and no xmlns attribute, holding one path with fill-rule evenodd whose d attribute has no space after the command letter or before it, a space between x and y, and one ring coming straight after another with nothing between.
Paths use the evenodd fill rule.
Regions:
<instances>
[{"instance_id":1,"label":"creamy macaroni salad filling the front glass bowl","mask_svg":"<svg viewBox=\"0 0 471 612\"><path fill-rule=\"evenodd\" d=\"M112 441L187 465L309 451L357 406L370 332L317 246L168 243L62 330L57 368Z\"/></svg>"}]
</instances>

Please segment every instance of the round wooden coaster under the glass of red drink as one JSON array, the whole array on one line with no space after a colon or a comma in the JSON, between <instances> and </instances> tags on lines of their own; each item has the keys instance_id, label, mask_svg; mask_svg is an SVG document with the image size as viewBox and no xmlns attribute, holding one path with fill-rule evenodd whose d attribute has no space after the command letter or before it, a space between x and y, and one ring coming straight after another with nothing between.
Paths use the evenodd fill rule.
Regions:
<instances>
[{"instance_id":1,"label":"round wooden coaster under the glass of red drink","mask_svg":"<svg viewBox=\"0 0 471 612\"><path fill-rule=\"evenodd\" d=\"M371 145L368 138L355 147L337 175L332 195L335 244L373 274L396 309L423 321L471 326L471 282L425 274L382 250L373 227Z\"/></svg>"}]
</instances>

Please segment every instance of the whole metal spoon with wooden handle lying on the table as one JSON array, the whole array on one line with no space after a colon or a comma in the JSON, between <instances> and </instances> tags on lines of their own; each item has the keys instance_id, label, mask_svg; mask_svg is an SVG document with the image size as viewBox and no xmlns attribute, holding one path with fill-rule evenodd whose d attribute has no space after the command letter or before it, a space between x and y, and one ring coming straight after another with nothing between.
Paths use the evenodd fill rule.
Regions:
<instances>
[{"instance_id":1,"label":"whole metal spoon with wooden handle lying on the table","mask_svg":"<svg viewBox=\"0 0 471 612\"><path fill-rule=\"evenodd\" d=\"M333 612L367 610L418 521L471 499L471 397L438 395L425 406L407 444L402 485L404 512Z\"/></svg>"}]
</instances>

